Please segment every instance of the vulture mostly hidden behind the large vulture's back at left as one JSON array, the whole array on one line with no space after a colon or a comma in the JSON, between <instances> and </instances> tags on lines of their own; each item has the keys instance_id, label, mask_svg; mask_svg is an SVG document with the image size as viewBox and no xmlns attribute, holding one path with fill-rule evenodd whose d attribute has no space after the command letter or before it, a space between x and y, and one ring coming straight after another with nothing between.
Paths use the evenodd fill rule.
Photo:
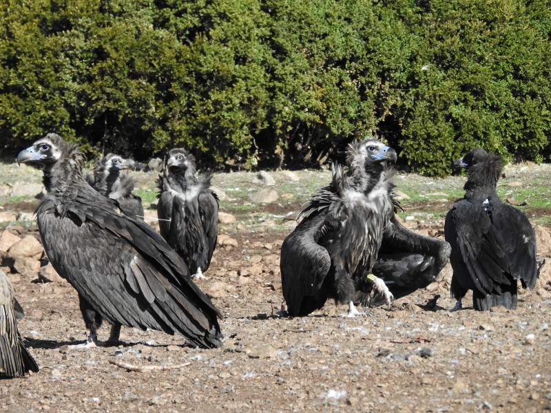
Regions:
<instances>
[{"instance_id":1,"label":"vulture mostly hidden behind the large vulture's back at left","mask_svg":"<svg viewBox=\"0 0 551 413\"><path fill-rule=\"evenodd\" d=\"M141 198L132 193L134 179L123 169L132 169L134 161L109 153L96 161L94 170L86 174L86 181L101 195L116 200L125 213L143 218Z\"/></svg>"}]
</instances>

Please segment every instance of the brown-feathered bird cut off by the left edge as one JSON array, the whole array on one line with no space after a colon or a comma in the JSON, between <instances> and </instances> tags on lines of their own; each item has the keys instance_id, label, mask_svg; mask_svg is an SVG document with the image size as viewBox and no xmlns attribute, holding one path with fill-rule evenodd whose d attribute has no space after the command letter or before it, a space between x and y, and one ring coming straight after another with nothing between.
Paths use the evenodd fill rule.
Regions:
<instances>
[{"instance_id":1,"label":"brown-feathered bird cut off by the left edge","mask_svg":"<svg viewBox=\"0 0 551 413\"><path fill-rule=\"evenodd\" d=\"M21 377L25 372L39 371L17 330L17 319L23 315L23 308L14 297L12 283L0 269L0 377Z\"/></svg>"}]
</instances>

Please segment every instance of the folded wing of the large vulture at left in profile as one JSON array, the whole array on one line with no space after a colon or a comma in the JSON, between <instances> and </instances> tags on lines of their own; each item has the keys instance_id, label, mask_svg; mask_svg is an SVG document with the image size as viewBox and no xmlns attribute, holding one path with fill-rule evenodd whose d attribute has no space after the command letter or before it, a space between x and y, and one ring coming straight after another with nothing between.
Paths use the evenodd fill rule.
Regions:
<instances>
[{"instance_id":1,"label":"folded wing of the large vulture at left in profile","mask_svg":"<svg viewBox=\"0 0 551 413\"><path fill-rule=\"evenodd\" d=\"M37 209L56 271L111 324L178 332L200 346L221 346L220 313L165 240L98 200L81 201L45 200Z\"/></svg>"}]
</instances>

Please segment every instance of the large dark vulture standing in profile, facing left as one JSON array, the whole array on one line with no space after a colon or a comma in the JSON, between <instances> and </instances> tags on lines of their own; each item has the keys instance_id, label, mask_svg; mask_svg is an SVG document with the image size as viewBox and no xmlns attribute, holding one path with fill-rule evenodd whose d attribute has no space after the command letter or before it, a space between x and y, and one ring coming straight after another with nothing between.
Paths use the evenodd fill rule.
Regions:
<instances>
[{"instance_id":1,"label":"large dark vulture standing in profile, facing left","mask_svg":"<svg viewBox=\"0 0 551 413\"><path fill-rule=\"evenodd\" d=\"M36 211L40 235L55 270L79 293L90 345L105 319L178 333L205 348L222 346L221 314L191 280L180 255L87 184L76 145L48 134L21 151L17 162L43 169L48 195Z\"/></svg>"}]
</instances>

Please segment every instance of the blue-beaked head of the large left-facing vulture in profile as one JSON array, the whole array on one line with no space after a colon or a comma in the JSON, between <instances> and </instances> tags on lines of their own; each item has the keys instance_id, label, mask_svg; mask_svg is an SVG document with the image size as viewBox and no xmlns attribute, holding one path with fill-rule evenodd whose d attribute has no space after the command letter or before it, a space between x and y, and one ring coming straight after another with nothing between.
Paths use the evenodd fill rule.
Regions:
<instances>
[{"instance_id":1,"label":"blue-beaked head of the large left-facing vulture in profile","mask_svg":"<svg viewBox=\"0 0 551 413\"><path fill-rule=\"evenodd\" d=\"M55 165L60 159L72 158L82 167L84 156L76 145L64 142L57 134L48 134L17 155L17 164L30 163L41 168Z\"/></svg>"}]
</instances>

